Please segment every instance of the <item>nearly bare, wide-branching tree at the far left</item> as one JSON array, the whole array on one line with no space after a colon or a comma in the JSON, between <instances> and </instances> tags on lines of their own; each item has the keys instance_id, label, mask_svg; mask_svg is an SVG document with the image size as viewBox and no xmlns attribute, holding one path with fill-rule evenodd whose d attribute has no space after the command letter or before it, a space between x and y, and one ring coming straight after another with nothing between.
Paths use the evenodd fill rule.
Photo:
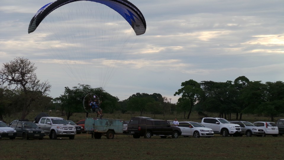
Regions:
<instances>
[{"instance_id":1,"label":"nearly bare, wide-branching tree at the far left","mask_svg":"<svg viewBox=\"0 0 284 160\"><path fill-rule=\"evenodd\" d=\"M48 95L51 85L47 82L38 80L34 63L26 58L14 58L9 63L3 63L0 70L0 83L7 84L13 89L20 89L23 92L23 101L21 103L22 115L24 119L30 112L30 106L42 96Z\"/></svg>"}]
</instances>

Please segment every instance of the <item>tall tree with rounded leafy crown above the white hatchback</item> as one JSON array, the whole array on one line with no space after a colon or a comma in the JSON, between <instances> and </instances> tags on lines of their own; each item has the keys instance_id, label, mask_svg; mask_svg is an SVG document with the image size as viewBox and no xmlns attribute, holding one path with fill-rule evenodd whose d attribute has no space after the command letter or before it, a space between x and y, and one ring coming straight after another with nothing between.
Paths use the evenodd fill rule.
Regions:
<instances>
[{"instance_id":1,"label":"tall tree with rounded leafy crown above the white hatchback","mask_svg":"<svg viewBox=\"0 0 284 160\"><path fill-rule=\"evenodd\" d=\"M174 96L182 94L181 97L178 99L178 103L182 103L183 101L189 102L180 105L183 106L184 111L188 108L189 113L187 119L189 119L193 105L197 102L199 96L203 94L203 91L200 87L200 84L196 81L193 81L192 79L189 81L182 82L181 87L181 89L178 89L178 91L175 92Z\"/></svg>"}]
</instances>

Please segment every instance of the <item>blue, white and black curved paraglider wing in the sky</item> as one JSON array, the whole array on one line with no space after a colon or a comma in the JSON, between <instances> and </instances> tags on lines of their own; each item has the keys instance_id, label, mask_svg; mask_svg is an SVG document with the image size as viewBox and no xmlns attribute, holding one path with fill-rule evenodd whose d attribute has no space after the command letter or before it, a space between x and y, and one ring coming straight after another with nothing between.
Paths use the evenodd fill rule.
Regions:
<instances>
[{"instance_id":1,"label":"blue, white and black curved paraglider wing in the sky","mask_svg":"<svg viewBox=\"0 0 284 160\"><path fill-rule=\"evenodd\" d=\"M41 7L38 12L33 16L30 21L30 25L28 28L28 33L35 31L41 21L52 11L55 9L75 1L83 1L83 0L57 0L46 4ZM104 4L116 12L118 12L125 20L131 25L136 35L144 34L146 31L146 21L144 16L140 12L140 10L131 2L127 0L85 0L85 1L93 1L97 3Z\"/></svg>"}]
</instances>

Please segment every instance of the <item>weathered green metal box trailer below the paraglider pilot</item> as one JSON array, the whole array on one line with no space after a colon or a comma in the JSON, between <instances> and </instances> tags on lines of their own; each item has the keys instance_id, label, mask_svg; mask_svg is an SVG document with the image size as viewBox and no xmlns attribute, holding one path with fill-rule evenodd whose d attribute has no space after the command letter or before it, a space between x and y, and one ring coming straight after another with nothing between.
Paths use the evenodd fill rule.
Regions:
<instances>
[{"instance_id":1,"label":"weathered green metal box trailer below the paraglider pilot","mask_svg":"<svg viewBox=\"0 0 284 160\"><path fill-rule=\"evenodd\" d=\"M114 135L122 135L123 120L98 117L85 118L85 132L91 132L92 138L100 139L102 135L107 139L113 139Z\"/></svg>"}]
</instances>

